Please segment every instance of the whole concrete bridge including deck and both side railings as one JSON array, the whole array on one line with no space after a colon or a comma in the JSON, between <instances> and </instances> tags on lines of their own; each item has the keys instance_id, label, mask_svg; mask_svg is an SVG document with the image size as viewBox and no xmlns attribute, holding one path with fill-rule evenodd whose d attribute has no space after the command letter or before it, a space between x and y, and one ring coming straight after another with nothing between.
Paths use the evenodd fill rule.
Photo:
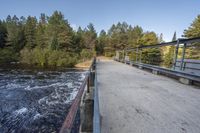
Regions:
<instances>
[{"instance_id":1,"label":"whole concrete bridge including deck and both side railings","mask_svg":"<svg viewBox=\"0 0 200 133\"><path fill-rule=\"evenodd\" d=\"M184 59L196 42L200 38L124 49L122 59L94 59L60 132L73 132L78 112L82 133L200 132L200 63ZM163 45L176 46L172 69L141 62L139 50ZM136 61L127 60L129 51L136 51Z\"/></svg>"}]
</instances>

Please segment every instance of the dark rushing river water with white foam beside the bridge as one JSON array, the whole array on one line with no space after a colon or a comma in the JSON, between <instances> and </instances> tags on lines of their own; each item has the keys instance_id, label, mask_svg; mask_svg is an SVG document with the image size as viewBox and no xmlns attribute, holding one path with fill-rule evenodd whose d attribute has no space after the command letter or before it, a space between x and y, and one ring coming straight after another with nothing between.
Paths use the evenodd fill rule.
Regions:
<instances>
[{"instance_id":1,"label":"dark rushing river water with white foam beside the bridge","mask_svg":"<svg viewBox=\"0 0 200 133\"><path fill-rule=\"evenodd\" d=\"M85 74L0 69L0 133L59 132Z\"/></svg>"}]
</instances>

